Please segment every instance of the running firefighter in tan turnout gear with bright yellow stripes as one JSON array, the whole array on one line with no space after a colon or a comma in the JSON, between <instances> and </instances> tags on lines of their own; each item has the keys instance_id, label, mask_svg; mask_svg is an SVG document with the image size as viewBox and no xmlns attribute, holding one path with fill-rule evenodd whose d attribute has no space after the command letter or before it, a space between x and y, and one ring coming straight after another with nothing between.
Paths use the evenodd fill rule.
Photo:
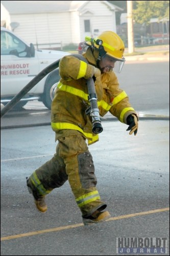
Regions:
<instances>
[{"instance_id":1,"label":"running firefighter in tan turnout gear with bright yellow stripes","mask_svg":"<svg viewBox=\"0 0 170 256\"><path fill-rule=\"evenodd\" d=\"M60 60L61 79L51 110L52 129L58 142L56 153L27 178L27 186L37 209L45 212L45 196L68 180L83 223L90 225L107 220L110 214L104 211L107 205L96 189L94 164L88 150L90 144L98 141L99 135L92 132L92 118L86 113L89 108L87 79L94 79L101 116L109 111L120 122L129 125L130 135L137 134L138 117L126 92L119 89L114 72L116 69L120 72L125 62L122 39L112 31L105 31L87 40L86 45L88 48L83 56L87 62L74 55Z\"/></svg>"}]
</instances>

